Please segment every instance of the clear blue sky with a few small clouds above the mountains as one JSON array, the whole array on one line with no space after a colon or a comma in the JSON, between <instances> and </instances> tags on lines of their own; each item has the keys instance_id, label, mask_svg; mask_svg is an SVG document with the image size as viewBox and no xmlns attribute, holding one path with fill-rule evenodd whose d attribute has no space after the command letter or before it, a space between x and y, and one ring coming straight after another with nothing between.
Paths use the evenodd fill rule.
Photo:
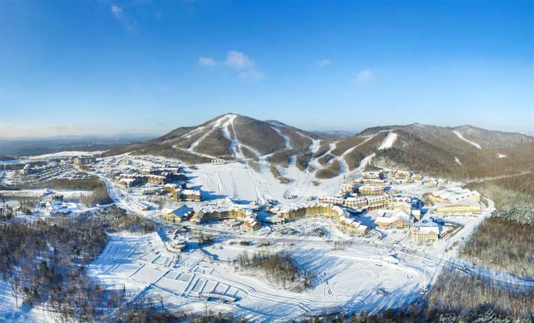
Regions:
<instances>
[{"instance_id":1,"label":"clear blue sky with a few small clouds above the mountains","mask_svg":"<svg viewBox=\"0 0 534 323\"><path fill-rule=\"evenodd\" d=\"M225 112L534 131L534 2L2 2L0 137Z\"/></svg>"}]
</instances>

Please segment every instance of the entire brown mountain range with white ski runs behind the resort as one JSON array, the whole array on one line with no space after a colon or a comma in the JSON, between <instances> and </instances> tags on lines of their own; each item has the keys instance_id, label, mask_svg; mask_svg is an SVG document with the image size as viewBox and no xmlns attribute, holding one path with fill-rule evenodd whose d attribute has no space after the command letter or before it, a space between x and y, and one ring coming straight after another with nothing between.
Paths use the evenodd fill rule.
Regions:
<instances>
[{"instance_id":1,"label":"entire brown mountain range with white ski runs behind the resort","mask_svg":"<svg viewBox=\"0 0 534 323\"><path fill-rule=\"evenodd\" d=\"M305 131L276 120L227 113L193 127L181 127L144 143L108 151L171 157L185 163L257 161L287 167L297 163L319 178L370 165L402 168L449 178L482 178L532 171L534 137L471 125L409 124L345 131ZM322 169L322 170L321 170Z\"/></svg>"}]
</instances>

